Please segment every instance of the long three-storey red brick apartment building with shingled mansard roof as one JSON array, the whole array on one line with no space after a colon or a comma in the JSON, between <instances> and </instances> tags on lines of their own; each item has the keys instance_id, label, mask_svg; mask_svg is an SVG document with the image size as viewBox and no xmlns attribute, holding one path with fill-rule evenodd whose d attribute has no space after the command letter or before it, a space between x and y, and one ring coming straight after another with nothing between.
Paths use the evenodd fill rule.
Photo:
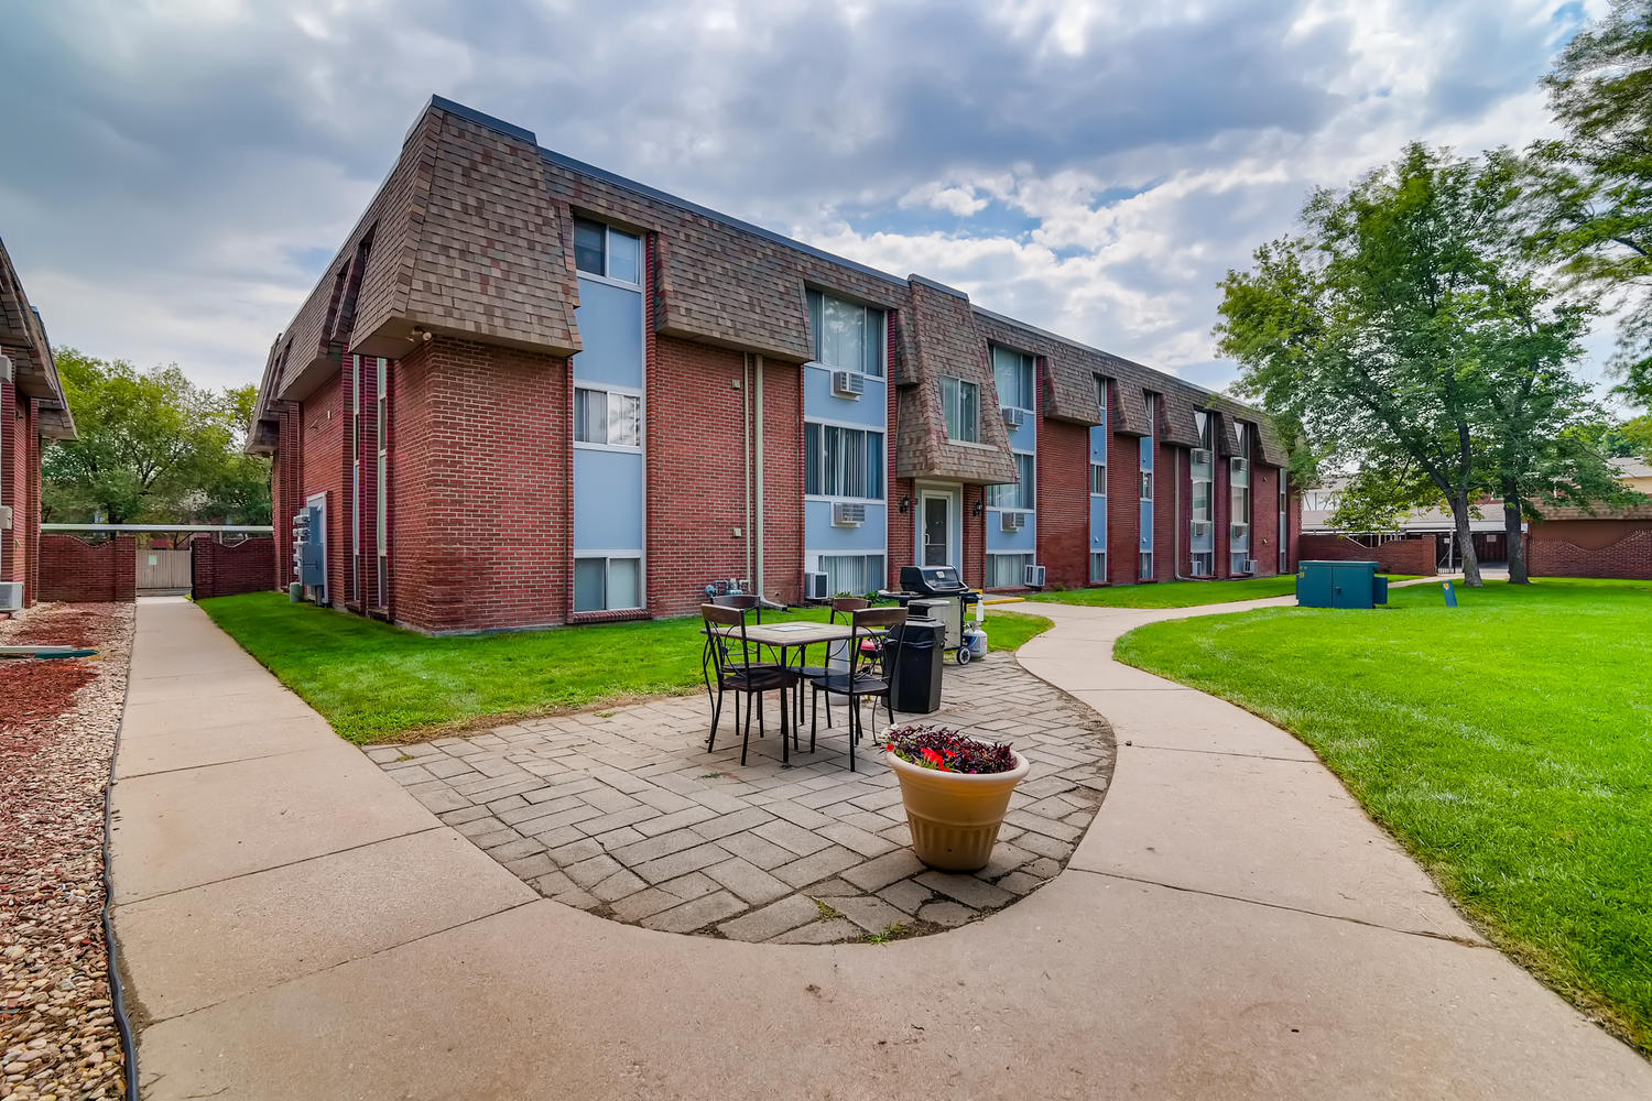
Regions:
<instances>
[{"instance_id":1,"label":"long three-storey red brick apartment building with shingled mansard roof","mask_svg":"<svg viewBox=\"0 0 1652 1101\"><path fill-rule=\"evenodd\" d=\"M1006 589L1272 574L1297 525L1234 401L443 99L271 348L249 447L278 525L309 523L312 594L434 632L912 563Z\"/></svg>"}]
</instances>

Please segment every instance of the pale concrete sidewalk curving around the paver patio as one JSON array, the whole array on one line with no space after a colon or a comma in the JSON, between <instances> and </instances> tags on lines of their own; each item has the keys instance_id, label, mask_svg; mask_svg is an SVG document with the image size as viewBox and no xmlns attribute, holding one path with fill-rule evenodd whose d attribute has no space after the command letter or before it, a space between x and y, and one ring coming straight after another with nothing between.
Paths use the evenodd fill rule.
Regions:
<instances>
[{"instance_id":1,"label":"pale concrete sidewalk curving around the paver patio","mask_svg":"<svg viewBox=\"0 0 1652 1101\"><path fill-rule=\"evenodd\" d=\"M806 947L537 898L197 607L144 602L112 875L145 1096L1652 1096L1300 744L1110 662L1176 612L1047 614L1024 664L1118 731L1069 868L952 933Z\"/></svg>"}]
</instances>

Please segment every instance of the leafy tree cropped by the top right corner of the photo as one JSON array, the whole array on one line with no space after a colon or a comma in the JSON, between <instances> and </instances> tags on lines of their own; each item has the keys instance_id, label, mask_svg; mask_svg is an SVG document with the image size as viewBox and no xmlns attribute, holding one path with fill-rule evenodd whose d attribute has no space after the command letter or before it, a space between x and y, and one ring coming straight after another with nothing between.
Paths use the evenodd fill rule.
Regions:
<instances>
[{"instance_id":1,"label":"leafy tree cropped by the top right corner of the photo","mask_svg":"<svg viewBox=\"0 0 1652 1101\"><path fill-rule=\"evenodd\" d=\"M1652 403L1652 0L1616 0L1543 84L1566 135L1530 149L1531 243L1621 307L1622 390Z\"/></svg>"}]
</instances>

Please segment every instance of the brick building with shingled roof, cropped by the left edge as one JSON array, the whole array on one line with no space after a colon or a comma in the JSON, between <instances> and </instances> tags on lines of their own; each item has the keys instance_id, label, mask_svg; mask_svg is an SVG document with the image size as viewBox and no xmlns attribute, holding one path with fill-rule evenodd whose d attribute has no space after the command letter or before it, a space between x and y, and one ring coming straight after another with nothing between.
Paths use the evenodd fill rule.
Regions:
<instances>
[{"instance_id":1,"label":"brick building with shingled roof, cropped by the left edge","mask_svg":"<svg viewBox=\"0 0 1652 1101\"><path fill-rule=\"evenodd\" d=\"M40 593L40 451L74 439L58 366L0 241L0 612Z\"/></svg>"}]
</instances>

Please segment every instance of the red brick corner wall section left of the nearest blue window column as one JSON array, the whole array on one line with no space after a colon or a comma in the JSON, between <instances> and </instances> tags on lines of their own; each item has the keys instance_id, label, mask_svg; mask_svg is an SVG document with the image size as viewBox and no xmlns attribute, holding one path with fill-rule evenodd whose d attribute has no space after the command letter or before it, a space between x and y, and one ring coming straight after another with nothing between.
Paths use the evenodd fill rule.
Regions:
<instances>
[{"instance_id":1,"label":"red brick corner wall section left of the nearest blue window column","mask_svg":"<svg viewBox=\"0 0 1652 1101\"><path fill-rule=\"evenodd\" d=\"M568 616L568 360L436 337L392 381L392 611L420 631Z\"/></svg>"}]
</instances>

